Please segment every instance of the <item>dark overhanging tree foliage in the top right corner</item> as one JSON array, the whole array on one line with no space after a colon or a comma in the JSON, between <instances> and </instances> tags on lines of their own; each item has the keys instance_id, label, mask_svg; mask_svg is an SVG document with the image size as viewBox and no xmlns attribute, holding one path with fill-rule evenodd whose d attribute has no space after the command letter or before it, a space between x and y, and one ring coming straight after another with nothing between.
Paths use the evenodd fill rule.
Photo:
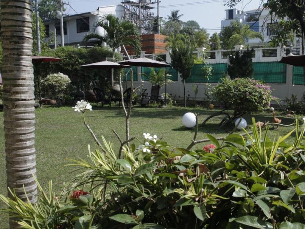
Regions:
<instances>
[{"instance_id":1,"label":"dark overhanging tree foliage in the top right corner","mask_svg":"<svg viewBox=\"0 0 305 229\"><path fill-rule=\"evenodd\" d=\"M234 7L241 0L227 0L225 5L230 8ZM305 36L305 1L303 0L260 0L263 9L270 9L266 16L276 16L280 19L287 17L286 22L293 22L291 27L296 34L299 34L302 40L302 53L304 53L304 36Z\"/></svg>"}]
</instances>

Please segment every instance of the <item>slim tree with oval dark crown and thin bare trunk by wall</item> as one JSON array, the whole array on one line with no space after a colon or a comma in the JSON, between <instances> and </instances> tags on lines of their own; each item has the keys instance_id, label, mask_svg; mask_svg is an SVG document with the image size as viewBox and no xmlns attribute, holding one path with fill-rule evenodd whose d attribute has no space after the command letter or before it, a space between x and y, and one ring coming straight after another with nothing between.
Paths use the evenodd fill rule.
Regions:
<instances>
[{"instance_id":1,"label":"slim tree with oval dark crown and thin bare trunk by wall","mask_svg":"<svg viewBox=\"0 0 305 229\"><path fill-rule=\"evenodd\" d=\"M174 41L171 48L170 57L173 67L181 74L184 90L184 106L186 107L185 80L190 77L194 65L192 45L190 40L182 35L180 40Z\"/></svg>"}]
</instances>

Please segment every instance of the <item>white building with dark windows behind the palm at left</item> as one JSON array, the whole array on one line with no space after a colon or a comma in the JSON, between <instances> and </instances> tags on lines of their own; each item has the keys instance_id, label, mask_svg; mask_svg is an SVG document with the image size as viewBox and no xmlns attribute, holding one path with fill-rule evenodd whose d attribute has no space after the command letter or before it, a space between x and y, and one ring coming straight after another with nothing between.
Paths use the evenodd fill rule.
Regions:
<instances>
[{"instance_id":1,"label":"white building with dark windows behind the palm at left","mask_svg":"<svg viewBox=\"0 0 305 229\"><path fill-rule=\"evenodd\" d=\"M110 5L110 6L102 6L99 7L96 11L75 14L71 16L63 17L63 27L64 27L64 41L65 45L77 45L81 44L83 41L83 37L89 31L92 31L94 27L94 23L97 19L102 18L107 14L113 14L116 17L122 19L124 16L125 7L123 5ZM56 24L56 26L55 26ZM45 22L46 34L49 37L50 35L54 35L54 31L56 30L57 36L57 44L60 43L60 20L56 19L52 21ZM103 28L98 27L96 32L105 35L105 31ZM93 40L94 42L94 40ZM54 45L54 43L53 43Z\"/></svg>"}]
</instances>

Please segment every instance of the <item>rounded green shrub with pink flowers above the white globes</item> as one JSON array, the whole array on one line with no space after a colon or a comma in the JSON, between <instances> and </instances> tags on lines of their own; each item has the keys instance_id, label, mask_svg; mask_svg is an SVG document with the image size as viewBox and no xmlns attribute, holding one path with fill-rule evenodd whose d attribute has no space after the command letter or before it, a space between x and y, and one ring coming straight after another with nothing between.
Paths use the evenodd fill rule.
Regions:
<instances>
[{"instance_id":1,"label":"rounded green shrub with pink flowers above the white globes","mask_svg":"<svg viewBox=\"0 0 305 229\"><path fill-rule=\"evenodd\" d=\"M213 96L225 109L232 109L236 116L262 111L273 99L270 86L250 78L222 78L213 88Z\"/></svg>"}]
</instances>

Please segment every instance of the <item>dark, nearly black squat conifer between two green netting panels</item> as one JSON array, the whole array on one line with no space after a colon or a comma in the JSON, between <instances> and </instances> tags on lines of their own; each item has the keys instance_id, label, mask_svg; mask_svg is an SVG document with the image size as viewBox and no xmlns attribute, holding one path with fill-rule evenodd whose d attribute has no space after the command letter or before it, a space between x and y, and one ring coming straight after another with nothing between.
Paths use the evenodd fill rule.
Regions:
<instances>
[{"instance_id":1,"label":"dark, nearly black squat conifer between two green netting panels","mask_svg":"<svg viewBox=\"0 0 305 229\"><path fill-rule=\"evenodd\" d=\"M235 78L252 78L253 77L253 65L252 65L252 53L253 49L244 51L235 51L235 56L229 56L228 75L231 79Z\"/></svg>"}]
</instances>

